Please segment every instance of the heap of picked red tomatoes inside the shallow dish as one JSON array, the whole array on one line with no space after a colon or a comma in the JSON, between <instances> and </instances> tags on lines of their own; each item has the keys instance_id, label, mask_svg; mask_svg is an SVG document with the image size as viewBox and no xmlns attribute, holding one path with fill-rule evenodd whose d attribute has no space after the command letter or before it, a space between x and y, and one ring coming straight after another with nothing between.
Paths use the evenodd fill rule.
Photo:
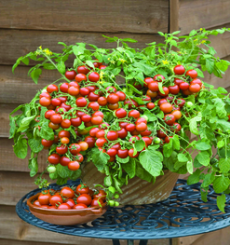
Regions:
<instances>
[{"instance_id":1,"label":"heap of picked red tomatoes inside the shallow dish","mask_svg":"<svg viewBox=\"0 0 230 245\"><path fill-rule=\"evenodd\" d=\"M100 206L105 201L105 191L93 191L85 184L80 184L77 187L65 186L59 191L45 190L33 205L46 209L83 209Z\"/></svg>"}]
</instances>

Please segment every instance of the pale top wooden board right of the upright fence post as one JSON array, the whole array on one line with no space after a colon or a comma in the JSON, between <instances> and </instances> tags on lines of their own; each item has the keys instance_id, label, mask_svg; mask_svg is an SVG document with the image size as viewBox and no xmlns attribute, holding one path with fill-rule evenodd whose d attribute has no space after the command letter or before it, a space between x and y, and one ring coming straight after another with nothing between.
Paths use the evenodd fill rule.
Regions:
<instances>
[{"instance_id":1,"label":"pale top wooden board right of the upright fence post","mask_svg":"<svg viewBox=\"0 0 230 245\"><path fill-rule=\"evenodd\" d=\"M181 34L193 29L212 28L230 23L229 0L180 0L179 30Z\"/></svg>"}]
</instances>

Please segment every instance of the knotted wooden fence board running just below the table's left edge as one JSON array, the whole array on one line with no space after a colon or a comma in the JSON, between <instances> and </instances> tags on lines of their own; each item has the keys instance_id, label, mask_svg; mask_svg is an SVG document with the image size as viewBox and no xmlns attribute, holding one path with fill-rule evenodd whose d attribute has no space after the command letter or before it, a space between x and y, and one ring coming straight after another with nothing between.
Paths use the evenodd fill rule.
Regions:
<instances>
[{"instance_id":1,"label":"knotted wooden fence board running just below the table's left edge","mask_svg":"<svg viewBox=\"0 0 230 245\"><path fill-rule=\"evenodd\" d=\"M4 239L18 240L7 245L54 245L54 244L75 244L75 245L112 245L109 239L94 239L85 237L76 237L63 235L51 231L46 231L22 221L15 212L15 206L0 205L0 244ZM4 241L3 240L3 241ZM34 243L34 241L36 243ZM39 243L37 243L39 241ZM127 241L121 240L121 245L127 244ZM135 241L135 245L139 241ZM169 245L169 239L149 240L149 245Z\"/></svg>"}]
</instances>

